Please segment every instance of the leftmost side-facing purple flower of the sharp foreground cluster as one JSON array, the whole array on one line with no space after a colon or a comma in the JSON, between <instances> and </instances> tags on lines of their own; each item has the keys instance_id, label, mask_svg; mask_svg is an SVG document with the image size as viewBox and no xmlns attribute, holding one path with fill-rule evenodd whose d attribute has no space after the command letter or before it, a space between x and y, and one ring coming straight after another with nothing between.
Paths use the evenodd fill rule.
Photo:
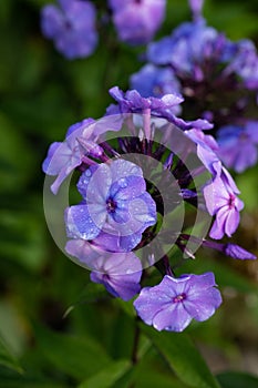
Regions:
<instances>
[{"instance_id":1,"label":"leftmost side-facing purple flower of the sharp foreground cluster","mask_svg":"<svg viewBox=\"0 0 258 388\"><path fill-rule=\"evenodd\" d=\"M80 147L79 137L85 140L94 139L93 119L83 120L80 123L69 127L64 142L54 142L50 145L48 156L45 157L42 169L48 175L58 175L51 190L58 193L61 183L65 177L83 161L83 152Z\"/></svg>"}]
</instances>

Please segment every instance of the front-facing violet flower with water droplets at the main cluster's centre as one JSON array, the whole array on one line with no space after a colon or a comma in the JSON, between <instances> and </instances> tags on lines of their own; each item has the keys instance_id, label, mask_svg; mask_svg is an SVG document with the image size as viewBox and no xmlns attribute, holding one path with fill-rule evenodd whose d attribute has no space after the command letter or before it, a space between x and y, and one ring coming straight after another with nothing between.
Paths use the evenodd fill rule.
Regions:
<instances>
[{"instance_id":1,"label":"front-facing violet flower with water droplets at the main cluster's centre","mask_svg":"<svg viewBox=\"0 0 258 388\"><path fill-rule=\"evenodd\" d=\"M97 241L107 251L128 252L142 233L156 223L156 204L146 192L142 169L115 160L82 173L78 190L83 197L65 212L68 236Z\"/></svg>"}]
</instances>

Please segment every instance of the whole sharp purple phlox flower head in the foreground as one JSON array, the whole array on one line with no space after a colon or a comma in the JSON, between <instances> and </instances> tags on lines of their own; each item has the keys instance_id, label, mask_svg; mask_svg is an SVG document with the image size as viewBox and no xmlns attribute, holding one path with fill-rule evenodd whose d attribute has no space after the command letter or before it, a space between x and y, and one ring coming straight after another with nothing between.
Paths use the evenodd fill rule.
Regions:
<instances>
[{"instance_id":1,"label":"whole sharp purple phlox flower head in the foreground","mask_svg":"<svg viewBox=\"0 0 258 388\"><path fill-rule=\"evenodd\" d=\"M180 95L146 96L117 86L110 94L115 103L105 115L72 125L43 162L45 174L54 176L53 195L72 172L79 176L81 201L63 214L64 249L113 297L135 297L136 314L147 325L182 331L192 319L208 319L221 295L210 272L177 275L178 263L166 245L174 237L172 245L189 259L195 256L190 241L234 258L255 258L238 245L218 242L236 231L244 204L215 139L204 132L213 125L177 115ZM188 160L195 161L193 171ZM146 170L152 161L157 167ZM210 218L213 239L175 226L186 203ZM152 284L155 268L157 285Z\"/></svg>"}]
</instances>

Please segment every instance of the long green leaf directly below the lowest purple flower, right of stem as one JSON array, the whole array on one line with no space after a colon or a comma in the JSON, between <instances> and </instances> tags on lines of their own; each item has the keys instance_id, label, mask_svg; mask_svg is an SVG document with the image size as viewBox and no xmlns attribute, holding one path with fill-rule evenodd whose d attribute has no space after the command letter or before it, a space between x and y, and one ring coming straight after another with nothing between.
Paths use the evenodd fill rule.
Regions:
<instances>
[{"instance_id":1,"label":"long green leaf directly below the lowest purple flower, right of stem","mask_svg":"<svg viewBox=\"0 0 258 388\"><path fill-rule=\"evenodd\" d=\"M183 382L196 388L219 388L216 378L187 335L158 333L145 325L141 327Z\"/></svg>"}]
</instances>

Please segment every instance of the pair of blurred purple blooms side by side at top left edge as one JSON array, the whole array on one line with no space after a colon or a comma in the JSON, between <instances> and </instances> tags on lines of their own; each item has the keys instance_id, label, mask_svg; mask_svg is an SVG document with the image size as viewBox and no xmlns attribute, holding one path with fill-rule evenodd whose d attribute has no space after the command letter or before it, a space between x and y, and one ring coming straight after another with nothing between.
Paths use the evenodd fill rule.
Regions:
<instances>
[{"instance_id":1,"label":"pair of blurred purple blooms side by side at top left edge","mask_svg":"<svg viewBox=\"0 0 258 388\"><path fill-rule=\"evenodd\" d=\"M104 14L90 0L58 0L41 12L45 38L68 59L86 58L96 49L99 28L111 21L120 41L131 45L149 42L165 16L166 0L107 0Z\"/></svg>"}]
</instances>

